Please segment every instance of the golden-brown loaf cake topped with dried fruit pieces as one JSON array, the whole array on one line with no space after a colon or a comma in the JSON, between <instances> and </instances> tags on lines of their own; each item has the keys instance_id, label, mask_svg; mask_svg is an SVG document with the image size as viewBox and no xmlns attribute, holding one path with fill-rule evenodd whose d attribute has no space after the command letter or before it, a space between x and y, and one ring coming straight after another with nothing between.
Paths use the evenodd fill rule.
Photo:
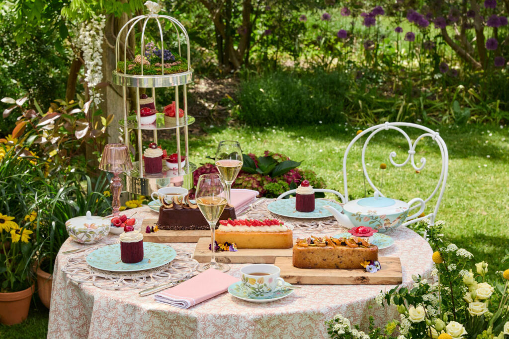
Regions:
<instances>
[{"instance_id":1,"label":"golden-brown loaf cake topped with dried fruit pieces","mask_svg":"<svg viewBox=\"0 0 509 339\"><path fill-rule=\"evenodd\" d=\"M293 246L298 268L363 268L364 261L378 260L378 247L358 238L309 237Z\"/></svg>"}]
</instances>

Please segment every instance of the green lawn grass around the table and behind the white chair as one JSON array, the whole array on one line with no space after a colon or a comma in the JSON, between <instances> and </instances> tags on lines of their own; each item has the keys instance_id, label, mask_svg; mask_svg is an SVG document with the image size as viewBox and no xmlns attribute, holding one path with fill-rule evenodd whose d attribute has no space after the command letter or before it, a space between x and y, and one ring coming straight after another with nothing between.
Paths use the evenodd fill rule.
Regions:
<instances>
[{"instance_id":1,"label":"green lawn grass around the table and behind the white chair","mask_svg":"<svg viewBox=\"0 0 509 339\"><path fill-rule=\"evenodd\" d=\"M207 127L207 135L191 136L190 160L204 163L206 156L214 155L219 141L238 140L244 152L260 154L270 149L285 153L293 160L303 160L302 168L313 169L325 179L328 188L343 192L343 153L356 131L363 128L343 124L292 128ZM490 274L494 276L495 271L509 267L508 263L500 263L509 240L506 227L509 220L507 127L439 126L438 130L449 150L449 177L437 219L446 221L445 234L451 241L474 254L473 262L489 262ZM410 137L416 135L410 134ZM164 147L175 145L172 140L160 142ZM348 163L349 193L354 197L364 195L360 145L352 149ZM382 179L380 164L388 165L383 171L382 192L386 196L408 201L415 196L423 198L423 192L430 192L435 187L440 153L431 139L423 139L416 149L416 162L422 157L427 159L420 173L415 173L409 166L395 168L390 165L388 155L391 151L398 153L396 162L404 161L407 155L408 146L397 132L381 132L370 145L366 163L375 183ZM38 309L32 307L29 319L22 324L9 328L0 326L0 337L45 337L48 312L40 303L37 305Z\"/></svg>"}]
</instances>

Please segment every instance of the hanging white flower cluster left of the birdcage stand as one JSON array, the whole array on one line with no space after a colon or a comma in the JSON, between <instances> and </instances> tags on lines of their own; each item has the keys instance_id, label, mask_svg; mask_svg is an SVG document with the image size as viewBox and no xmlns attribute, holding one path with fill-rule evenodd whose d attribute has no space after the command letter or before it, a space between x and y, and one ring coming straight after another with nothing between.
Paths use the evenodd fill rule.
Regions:
<instances>
[{"instance_id":1,"label":"hanging white flower cluster left of the birdcage stand","mask_svg":"<svg viewBox=\"0 0 509 339\"><path fill-rule=\"evenodd\" d=\"M74 41L76 47L83 52L85 82L87 82L90 99L96 106L102 101L95 87L102 81L102 44L105 23L104 15L82 22Z\"/></svg>"}]
</instances>

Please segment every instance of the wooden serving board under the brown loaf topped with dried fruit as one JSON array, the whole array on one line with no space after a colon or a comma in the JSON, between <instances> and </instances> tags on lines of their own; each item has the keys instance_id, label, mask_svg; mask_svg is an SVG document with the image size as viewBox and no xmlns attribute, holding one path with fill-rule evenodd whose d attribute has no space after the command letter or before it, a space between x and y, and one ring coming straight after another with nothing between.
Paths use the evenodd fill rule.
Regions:
<instances>
[{"instance_id":1,"label":"wooden serving board under the brown loaf topped with dried fruit","mask_svg":"<svg viewBox=\"0 0 509 339\"><path fill-rule=\"evenodd\" d=\"M297 268L291 257L276 258L280 276L291 284L316 285L399 285L403 281L398 257L381 257L382 269L375 273L365 269Z\"/></svg>"}]
</instances>

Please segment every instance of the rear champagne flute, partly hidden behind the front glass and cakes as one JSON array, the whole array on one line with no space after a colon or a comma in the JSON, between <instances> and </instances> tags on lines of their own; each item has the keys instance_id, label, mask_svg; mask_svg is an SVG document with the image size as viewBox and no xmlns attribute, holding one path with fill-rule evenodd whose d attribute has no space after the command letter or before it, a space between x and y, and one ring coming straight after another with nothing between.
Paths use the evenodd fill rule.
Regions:
<instances>
[{"instance_id":1,"label":"rear champagne flute, partly hidden behind the front glass and cakes","mask_svg":"<svg viewBox=\"0 0 509 339\"><path fill-rule=\"evenodd\" d=\"M242 168L242 149L238 141L223 140L219 142L216 151L216 167L227 187L227 200L231 205L231 190L235 178Z\"/></svg>"}]
</instances>

